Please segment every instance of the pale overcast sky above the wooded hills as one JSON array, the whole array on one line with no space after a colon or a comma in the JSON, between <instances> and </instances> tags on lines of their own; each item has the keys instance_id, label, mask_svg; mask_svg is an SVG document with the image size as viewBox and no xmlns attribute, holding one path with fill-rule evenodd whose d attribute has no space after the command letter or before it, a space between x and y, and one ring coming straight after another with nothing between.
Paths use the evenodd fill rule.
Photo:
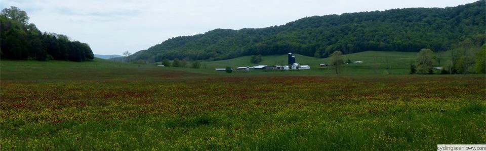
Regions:
<instances>
[{"instance_id":1,"label":"pale overcast sky above the wooded hills","mask_svg":"<svg viewBox=\"0 0 486 151\"><path fill-rule=\"evenodd\" d=\"M2 0L16 6L43 32L90 44L95 54L132 53L169 38L216 28L283 25L307 16L396 8L444 8L477 0Z\"/></svg>"}]
</instances>

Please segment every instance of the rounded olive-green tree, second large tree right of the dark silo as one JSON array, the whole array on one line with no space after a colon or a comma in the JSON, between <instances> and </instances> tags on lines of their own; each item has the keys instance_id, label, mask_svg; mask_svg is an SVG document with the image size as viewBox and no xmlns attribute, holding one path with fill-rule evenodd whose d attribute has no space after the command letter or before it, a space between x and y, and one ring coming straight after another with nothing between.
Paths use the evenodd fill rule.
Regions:
<instances>
[{"instance_id":1,"label":"rounded olive-green tree, second large tree right of the dark silo","mask_svg":"<svg viewBox=\"0 0 486 151\"><path fill-rule=\"evenodd\" d=\"M417 74L433 73L432 68L435 62L434 52L430 49L422 49L417 58Z\"/></svg>"}]
</instances>

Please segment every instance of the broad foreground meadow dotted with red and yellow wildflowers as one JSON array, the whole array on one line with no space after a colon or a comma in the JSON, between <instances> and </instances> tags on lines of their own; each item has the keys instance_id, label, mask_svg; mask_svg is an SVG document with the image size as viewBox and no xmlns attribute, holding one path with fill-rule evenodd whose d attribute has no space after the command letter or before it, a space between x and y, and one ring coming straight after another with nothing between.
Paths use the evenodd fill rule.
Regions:
<instances>
[{"instance_id":1,"label":"broad foreground meadow dotted with red and yellow wildflowers","mask_svg":"<svg viewBox=\"0 0 486 151\"><path fill-rule=\"evenodd\" d=\"M404 75L409 63L396 60L414 57L346 55L365 63L345 66L339 76L315 65L212 69L243 66L248 57L201 69L2 60L0 149L431 150L486 143L484 74ZM392 75L383 74L386 59ZM378 74L367 64L374 60ZM322 61L297 55L301 64Z\"/></svg>"}]
</instances>

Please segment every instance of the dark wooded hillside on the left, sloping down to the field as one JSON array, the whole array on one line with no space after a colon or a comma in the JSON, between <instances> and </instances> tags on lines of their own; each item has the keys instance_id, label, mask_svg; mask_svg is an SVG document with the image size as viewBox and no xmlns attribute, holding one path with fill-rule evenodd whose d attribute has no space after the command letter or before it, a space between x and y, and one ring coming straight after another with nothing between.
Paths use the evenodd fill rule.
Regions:
<instances>
[{"instance_id":1,"label":"dark wooded hillside on the left, sloping down to the field","mask_svg":"<svg viewBox=\"0 0 486 151\"><path fill-rule=\"evenodd\" d=\"M65 35L42 33L29 17L16 7L0 15L0 57L2 59L86 61L94 58L86 43L71 41Z\"/></svg>"}]
</instances>

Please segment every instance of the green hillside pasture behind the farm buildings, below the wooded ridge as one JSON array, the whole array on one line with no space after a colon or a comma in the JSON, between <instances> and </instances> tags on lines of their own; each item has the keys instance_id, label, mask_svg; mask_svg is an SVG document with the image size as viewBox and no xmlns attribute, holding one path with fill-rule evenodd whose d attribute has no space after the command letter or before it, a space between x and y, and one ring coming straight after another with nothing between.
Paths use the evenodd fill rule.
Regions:
<instances>
[{"instance_id":1,"label":"green hillside pasture behind the farm buildings, below the wooded ridge","mask_svg":"<svg viewBox=\"0 0 486 151\"><path fill-rule=\"evenodd\" d=\"M473 55L477 50L471 50L469 55ZM434 64L435 66L448 67L451 63L450 52L437 53L441 56L441 63ZM321 68L320 63L329 63L329 58L314 58L299 54L294 54L296 61L301 65L310 65L311 71L286 72L285 74L302 74L302 75L319 75L319 74L335 74L331 68ZM415 62L417 52L383 52L383 51L365 51L359 53L352 53L343 55L346 61L362 61L363 63L351 63L342 65L341 74L409 74L410 63ZM260 63L251 63L251 56L238 57L228 60L203 62L203 68L212 69L224 68L227 66L236 68L239 66L255 66L255 65L287 65L287 55L272 55L263 56L263 61ZM261 72L257 72L261 73Z\"/></svg>"}]
</instances>

